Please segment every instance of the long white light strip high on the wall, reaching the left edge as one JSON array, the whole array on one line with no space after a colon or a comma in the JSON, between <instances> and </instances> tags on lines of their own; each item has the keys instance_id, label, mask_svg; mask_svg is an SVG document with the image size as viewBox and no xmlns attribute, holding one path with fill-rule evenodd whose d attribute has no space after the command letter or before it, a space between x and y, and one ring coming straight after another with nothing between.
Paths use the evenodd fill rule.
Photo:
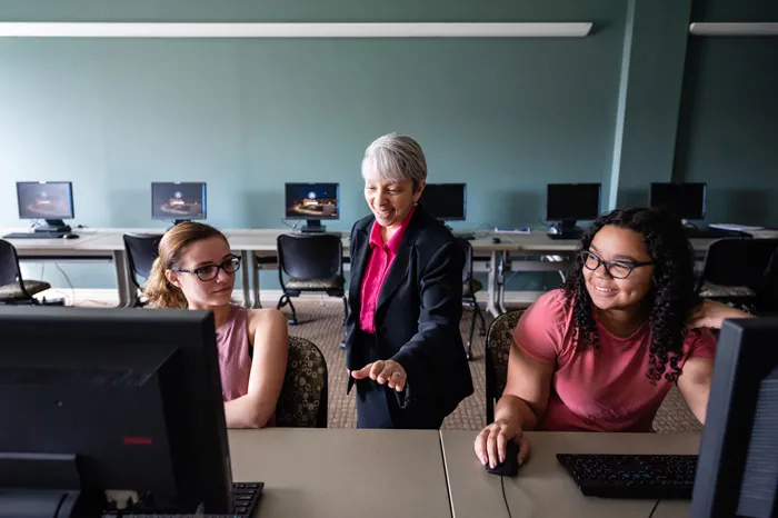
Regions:
<instances>
[{"instance_id":1,"label":"long white light strip high on the wall, reaching the left edge","mask_svg":"<svg viewBox=\"0 0 778 518\"><path fill-rule=\"evenodd\" d=\"M0 22L20 38L582 38L592 23Z\"/></svg>"}]
</instances>

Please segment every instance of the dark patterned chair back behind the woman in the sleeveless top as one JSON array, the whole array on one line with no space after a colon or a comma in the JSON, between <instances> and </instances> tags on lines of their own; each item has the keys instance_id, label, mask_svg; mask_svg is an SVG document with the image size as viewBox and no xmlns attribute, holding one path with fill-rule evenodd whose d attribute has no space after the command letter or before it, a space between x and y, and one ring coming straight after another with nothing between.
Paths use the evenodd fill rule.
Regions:
<instances>
[{"instance_id":1,"label":"dark patterned chair back behind the woman in the sleeveless top","mask_svg":"<svg viewBox=\"0 0 778 518\"><path fill-rule=\"evenodd\" d=\"M276 426L327 428L327 361L310 340L289 337L289 359Z\"/></svg>"}]
</instances>

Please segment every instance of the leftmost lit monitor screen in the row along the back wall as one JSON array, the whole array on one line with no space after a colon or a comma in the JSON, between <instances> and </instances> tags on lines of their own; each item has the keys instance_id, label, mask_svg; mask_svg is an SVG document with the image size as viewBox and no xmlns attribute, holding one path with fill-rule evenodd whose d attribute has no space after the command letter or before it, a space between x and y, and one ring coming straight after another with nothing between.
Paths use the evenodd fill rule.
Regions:
<instances>
[{"instance_id":1,"label":"leftmost lit monitor screen in the row along the back wall","mask_svg":"<svg viewBox=\"0 0 778 518\"><path fill-rule=\"evenodd\" d=\"M73 189L69 181L18 181L19 218L72 219Z\"/></svg>"}]
</instances>

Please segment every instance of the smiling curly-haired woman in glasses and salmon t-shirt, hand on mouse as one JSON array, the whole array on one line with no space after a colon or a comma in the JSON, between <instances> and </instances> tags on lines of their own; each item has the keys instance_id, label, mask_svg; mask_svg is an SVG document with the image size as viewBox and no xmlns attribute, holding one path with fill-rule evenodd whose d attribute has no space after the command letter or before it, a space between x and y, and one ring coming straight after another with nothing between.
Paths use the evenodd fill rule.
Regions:
<instances>
[{"instance_id":1,"label":"smiling curly-haired woman in glasses and salmon t-shirt, hand on mouse","mask_svg":"<svg viewBox=\"0 0 778 518\"><path fill-rule=\"evenodd\" d=\"M523 461L522 430L651 431L674 385L705 422L716 340L697 326L745 313L698 306L694 263L684 227L668 212L598 218L562 288L519 320L495 422L476 438L481 462L503 461L509 439Z\"/></svg>"}]
</instances>

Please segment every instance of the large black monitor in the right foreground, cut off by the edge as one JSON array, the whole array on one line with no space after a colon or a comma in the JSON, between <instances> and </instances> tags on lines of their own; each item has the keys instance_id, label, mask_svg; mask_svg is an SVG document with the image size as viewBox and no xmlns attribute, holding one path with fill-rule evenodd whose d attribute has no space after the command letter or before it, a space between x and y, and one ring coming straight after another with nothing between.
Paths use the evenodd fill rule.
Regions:
<instances>
[{"instance_id":1,"label":"large black monitor in the right foreground, cut off by the edge","mask_svg":"<svg viewBox=\"0 0 778 518\"><path fill-rule=\"evenodd\" d=\"M778 516L778 317L725 320L692 518Z\"/></svg>"}]
</instances>

